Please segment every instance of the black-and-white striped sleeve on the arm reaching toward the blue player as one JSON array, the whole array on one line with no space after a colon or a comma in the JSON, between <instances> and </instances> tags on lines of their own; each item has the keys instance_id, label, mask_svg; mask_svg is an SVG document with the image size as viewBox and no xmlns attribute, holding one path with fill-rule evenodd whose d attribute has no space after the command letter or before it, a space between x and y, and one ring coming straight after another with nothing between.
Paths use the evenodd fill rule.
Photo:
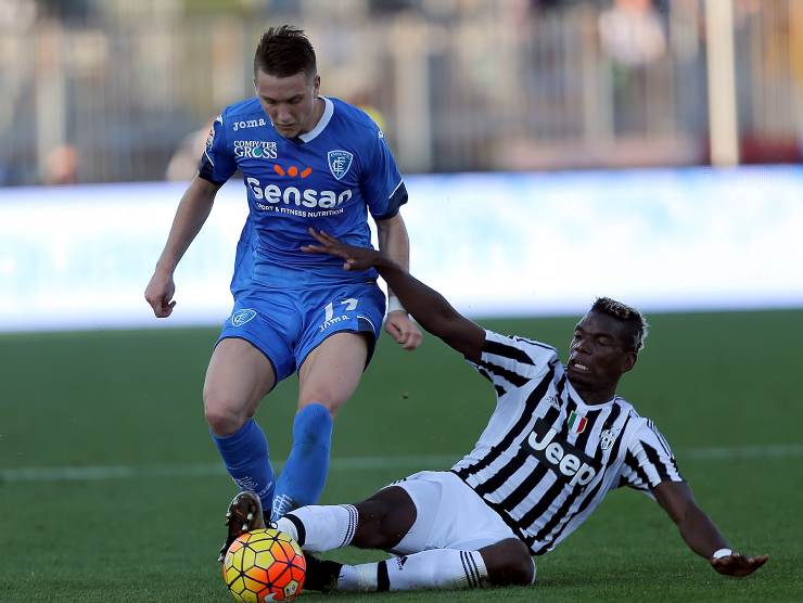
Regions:
<instances>
[{"instance_id":1,"label":"black-and-white striped sleeve on the arm reaching toward the blue player","mask_svg":"<svg viewBox=\"0 0 803 603\"><path fill-rule=\"evenodd\" d=\"M467 362L494 384L498 396L504 396L544 374L557 359L558 351L551 346L486 331L480 361Z\"/></svg>"}]
</instances>

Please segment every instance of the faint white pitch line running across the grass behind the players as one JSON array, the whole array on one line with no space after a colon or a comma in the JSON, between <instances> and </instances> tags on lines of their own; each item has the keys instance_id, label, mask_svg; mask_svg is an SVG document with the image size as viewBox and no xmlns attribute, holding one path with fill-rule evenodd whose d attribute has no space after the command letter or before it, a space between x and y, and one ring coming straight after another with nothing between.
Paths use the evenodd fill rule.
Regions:
<instances>
[{"instance_id":1,"label":"faint white pitch line running across the grass behind the players","mask_svg":"<svg viewBox=\"0 0 803 603\"><path fill-rule=\"evenodd\" d=\"M788 459L803 457L803 445L781 444L772 446L740 446L681 448L677 458L685 461L735 461L752 459ZM420 454L411 457L339 457L331 461L333 472L368 470L439 470L457 462L459 454ZM281 470L284 461L275 461ZM142 477L204 477L224 475L220 463L173 465L98 465L0 469L3 482L79 482L104 479L135 479Z\"/></svg>"}]
</instances>

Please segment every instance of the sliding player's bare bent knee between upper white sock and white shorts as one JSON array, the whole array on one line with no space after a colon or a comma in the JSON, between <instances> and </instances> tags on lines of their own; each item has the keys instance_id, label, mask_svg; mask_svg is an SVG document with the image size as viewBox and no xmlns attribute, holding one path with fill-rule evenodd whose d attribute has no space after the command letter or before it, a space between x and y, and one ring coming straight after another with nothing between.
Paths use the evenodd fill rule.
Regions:
<instances>
[{"instance_id":1,"label":"sliding player's bare bent knee between upper white sock and white shorts","mask_svg":"<svg viewBox=\"0 0 803 603\"><path fill-rule=\"evenodd\" d=\"M416 523L416 505L406 490L392 486L357 505L359 523L352 544L360 549L390 550Z\"/></svg>"}]
</instances>

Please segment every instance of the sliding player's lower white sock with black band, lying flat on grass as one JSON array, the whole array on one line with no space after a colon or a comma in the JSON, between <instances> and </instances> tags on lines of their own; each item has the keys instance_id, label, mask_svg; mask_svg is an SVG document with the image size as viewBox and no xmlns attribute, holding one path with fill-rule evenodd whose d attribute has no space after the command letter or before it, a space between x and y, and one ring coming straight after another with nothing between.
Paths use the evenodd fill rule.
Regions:
<instances>
[{"instance_id":1,"label":"sliding player's lower white sock with black band, lying flat on grass","mask_svg":"<svg viewBox=\"0 0 803 603\"><path fill-rule=\"evenodd\" d=\"M379 563L344 565L337 589L346 591L479 588L488 572L479 551L434 549Z\"/></svg>"}]
</instances>

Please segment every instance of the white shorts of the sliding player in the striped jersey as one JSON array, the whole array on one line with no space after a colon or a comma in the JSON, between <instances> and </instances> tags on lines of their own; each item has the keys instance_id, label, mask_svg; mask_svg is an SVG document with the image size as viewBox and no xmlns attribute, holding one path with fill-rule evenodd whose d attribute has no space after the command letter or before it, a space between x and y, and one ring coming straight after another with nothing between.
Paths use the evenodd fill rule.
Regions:
<instances>
[{"instance_id":1,"label":"white shorts of the sliding player in the striped jersey","mask_svg":"<svg viewBox=\"0 0 803 603\"><path fill-rule=\"evenodd\" d=\"M417 511L416 522L391 551L393 553L407 555L431 549L475 551L500 540L518 538L454 473L422 471L392 486L404 488Z\"/></svg>"}]
</instances>

